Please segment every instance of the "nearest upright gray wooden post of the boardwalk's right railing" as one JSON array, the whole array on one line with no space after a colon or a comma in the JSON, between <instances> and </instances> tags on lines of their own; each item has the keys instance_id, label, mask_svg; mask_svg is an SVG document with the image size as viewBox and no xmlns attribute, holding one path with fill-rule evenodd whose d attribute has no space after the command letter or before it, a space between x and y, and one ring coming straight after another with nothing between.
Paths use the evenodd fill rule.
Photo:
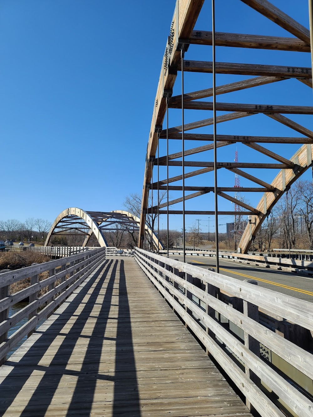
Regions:
<instances>
[{"instance_id":1,"label":"nearest upright gray wooden post of the boardwalk's right railing","mask_svg":"<svg viewBox=\"0 0 313 417\"><path fill-rule=\"evenodd\" d=\"M252 285L257 285L257 281L254 279L245 279L245 282L248 282ZM250 317L251 319L255 320L255 322L259 322L259 307L255 304L250 303L249 301L243 300L243 314L245 316ZM257 357L260 357L260 342L258 342L254 337L250 336L247 332L244 332L245 337L245 346L253 352ZM260 386L260 378L255 375L254 372L250 370L249 367L245 364L245 373L247 377L251 379L258 387ZM250 411L253 411L253 406L250 404L250 401L246 399L247 408Z\"/></svg>"}]
</instances>

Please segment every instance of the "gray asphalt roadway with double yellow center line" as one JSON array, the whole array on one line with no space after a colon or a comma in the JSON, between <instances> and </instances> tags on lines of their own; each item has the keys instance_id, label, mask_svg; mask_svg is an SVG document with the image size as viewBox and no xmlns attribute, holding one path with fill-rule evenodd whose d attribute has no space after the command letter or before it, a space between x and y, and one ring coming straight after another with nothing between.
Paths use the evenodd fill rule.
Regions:
<instances>
[{"instance_id":1,"label":"gray asphalt roadway with double yellow center line","mask_svg":"<svg viewBox=\"0 0 313 417\"><path fill-rule=\"evenodd\" d=\"M172 259L183 261L182 255L169 255ZM215 268L215 258L190 256L186 254L186 262L192 262L201 268ZM286 295L313 302L313 277L292 272L275 271L265 266L247 265L237 261L220 259L220 273L231 278L255 279L257 285L279 291Z\"/></svg>"}]
</instances>

